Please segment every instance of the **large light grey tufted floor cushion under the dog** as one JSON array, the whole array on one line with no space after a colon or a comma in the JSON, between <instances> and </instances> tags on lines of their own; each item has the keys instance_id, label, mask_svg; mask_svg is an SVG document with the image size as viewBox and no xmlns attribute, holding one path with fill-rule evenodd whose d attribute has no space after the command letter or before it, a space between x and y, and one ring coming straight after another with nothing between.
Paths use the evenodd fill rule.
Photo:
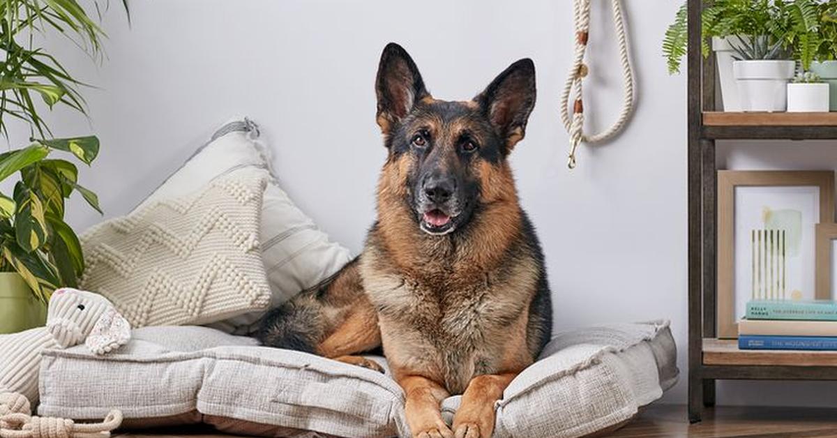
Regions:
<instances>
[{"instance_id":1,"label":"large light grey tufted floor cushion under the dog","mask_svg":"<svg viewBox=\"0 0 837 438\"><path fill-rule=\"evenodd\" d=\"M229 433L408 436L403 391L387 374L311 354L259 347L208 327L146 327L114 355L48 350L40 415L127 425L203 421ZM375 358L383 365L383 358ZM557 335L497 403L495 436L593 434L633 418L677 379L667 322ZM451 420L460 396L444 400Z\"/></svg>"}]
</instances>

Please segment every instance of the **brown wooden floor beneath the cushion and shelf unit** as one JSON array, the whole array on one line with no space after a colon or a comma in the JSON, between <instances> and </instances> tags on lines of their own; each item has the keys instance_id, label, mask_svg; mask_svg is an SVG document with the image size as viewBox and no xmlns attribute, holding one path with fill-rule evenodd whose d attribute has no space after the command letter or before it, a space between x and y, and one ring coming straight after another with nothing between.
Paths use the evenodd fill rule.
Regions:
<instances>
[{"instance_id":1,"label":"brown wooden floor beneath the cushion and shelf unit","mask_svg":"<svg viewBox=\"0 0 837 438\"><path fill-rule=\"evenodd\" d=\"M117 434L121 438L218 438L207 429L161 431L158 434ZM606 435L618 438L688 437L837 437L837 410L817 408L739 408L708 409L701 423L690 425L686 406L651 405L624 428Z\"/></svg>"}]
</instances>

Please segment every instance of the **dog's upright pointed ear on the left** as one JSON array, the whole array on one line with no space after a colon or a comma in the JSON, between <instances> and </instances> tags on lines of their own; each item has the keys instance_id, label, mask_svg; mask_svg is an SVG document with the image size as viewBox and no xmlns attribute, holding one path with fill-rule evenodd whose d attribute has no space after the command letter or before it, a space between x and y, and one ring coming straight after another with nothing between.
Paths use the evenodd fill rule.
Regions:
<instances>
[{"instance_id":1,"label":"dog's upright pointed ear on the left","mask_svg":"<svg viewBox=\"0 0 837 438\"><path fill-rule=\"evenodd\" d=\"M419 68L398 44L383 48L381 63L375 80L377 95L377 124L388 134L393 124L400 121L419 100L429 96Z\"/></svg>"}]
</instances>

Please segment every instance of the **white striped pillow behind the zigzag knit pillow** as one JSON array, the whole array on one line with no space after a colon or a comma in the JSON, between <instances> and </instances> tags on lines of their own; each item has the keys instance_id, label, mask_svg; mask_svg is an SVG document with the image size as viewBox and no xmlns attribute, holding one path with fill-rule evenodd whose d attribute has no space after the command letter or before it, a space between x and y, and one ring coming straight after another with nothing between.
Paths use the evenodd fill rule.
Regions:
<instances>
[{"instance_id":1,"label":"white striped pillow behind the zigzag knit pillow","mask_svg":"<svg viewBox=\"0 0 837 438\"><path fill-rule=\"evenodd\" d=\"M137 209L159 198L192 193L213 179L240 174L245 169L270 172L270 148L259 138L259 128L252 121L229 121ZM262 259L272 293L270 307L278 307L298 292L316 286L352 260L346 247L331 241L294 204L273 173L264 189L261 218ZM250 334L263 315L264 311L249 312L212 327Z\"/></svg>"}]
</instances>

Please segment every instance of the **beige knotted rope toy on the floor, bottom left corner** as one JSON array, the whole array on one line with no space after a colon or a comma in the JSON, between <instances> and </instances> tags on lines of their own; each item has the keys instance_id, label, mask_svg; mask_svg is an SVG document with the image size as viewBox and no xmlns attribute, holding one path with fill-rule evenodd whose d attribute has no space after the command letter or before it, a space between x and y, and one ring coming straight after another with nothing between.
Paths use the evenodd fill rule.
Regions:
<instances>
[{"instance_id":1,"label":"beige knotted rope toy on the floor, bottom left corner","mask_svg":"<svg viewBox=\"0 0 837 438\"><path fill-rule=\"evenodd\" d=\"M120 410L111 410L100 423L33 416L23 394L0 393L0 438L105 438L121 424Z\"/></svg>"}]
</instances>

